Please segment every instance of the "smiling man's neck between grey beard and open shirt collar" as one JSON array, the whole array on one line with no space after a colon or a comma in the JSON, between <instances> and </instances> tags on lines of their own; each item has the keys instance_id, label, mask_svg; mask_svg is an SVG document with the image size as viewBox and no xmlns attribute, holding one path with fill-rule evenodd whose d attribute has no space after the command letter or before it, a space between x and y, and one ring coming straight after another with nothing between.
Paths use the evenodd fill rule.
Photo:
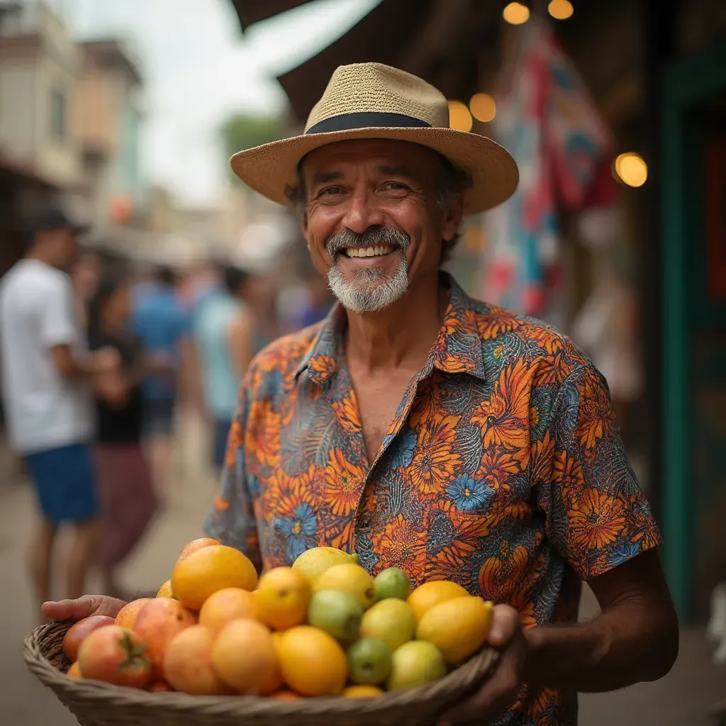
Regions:
<instances>
[{"instance_id":1,"label":"smiling man's neck between grey beard and open shirt collar","mask_svg":"<svg viewBox=\"0 0 726 726\"><path fill-rule=\"evenodd\" d=\"M446 291L437 275L409 287L385 310L346 311L348 367L368 373L420 368L439 335L445 309Z\"/></svg>"}]
</instances>

